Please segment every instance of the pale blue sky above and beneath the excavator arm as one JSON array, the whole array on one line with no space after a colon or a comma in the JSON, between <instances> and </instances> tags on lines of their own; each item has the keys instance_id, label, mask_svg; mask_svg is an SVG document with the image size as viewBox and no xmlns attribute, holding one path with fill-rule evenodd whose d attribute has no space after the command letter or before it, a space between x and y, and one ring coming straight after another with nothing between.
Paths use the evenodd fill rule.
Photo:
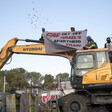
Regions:
<instances>
[{"instance_id":1,"label":"pale blue sky above and beneath the excavator arm","mask_svg":"<svg viewBox=\"0 0 112 112\"><path fill-rule=\"evenodd\" d=\"M112 0L0 0L0 48L14 37L38 40L42 27L70 31L71 26L88 29L87 35L103 48L106 37L112 36ZM2 70L19 67L42 75L70 73L65 58L22 54L14 54Z\"/></svg>"}]
</instances>

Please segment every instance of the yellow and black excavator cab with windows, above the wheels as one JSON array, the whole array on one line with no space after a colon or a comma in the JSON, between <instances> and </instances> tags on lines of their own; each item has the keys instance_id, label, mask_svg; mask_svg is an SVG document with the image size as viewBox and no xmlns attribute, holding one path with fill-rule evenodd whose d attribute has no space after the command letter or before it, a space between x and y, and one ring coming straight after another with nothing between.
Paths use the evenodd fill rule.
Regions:
<instances>
[{"instance_id":1,"label":"yellow and black excavator cab with windows, above the wheels","mask_svg":"<svg viewBox=\"0 0 112 112\"><path fill-rule=\"evenodd\" d=\"M103 88L112 83L108 49L77 51L73 58L71 82L75 89ZM107 84L105 84L107 83Z\"/></svg>"}]
</instances>

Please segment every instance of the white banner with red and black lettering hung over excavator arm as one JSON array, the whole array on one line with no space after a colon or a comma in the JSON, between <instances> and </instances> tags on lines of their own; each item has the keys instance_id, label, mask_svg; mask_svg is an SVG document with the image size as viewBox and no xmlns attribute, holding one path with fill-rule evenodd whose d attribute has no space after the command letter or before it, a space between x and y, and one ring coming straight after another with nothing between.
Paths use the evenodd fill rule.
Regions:
<instances>
[{"instance_id":1,"label":"white banner with red and black lettering hung over excavator arm","mask_svg":"<svg viewBox=\"0 0 112 112\"><path fill-rule=\"evenodd\" d=\"M87 30L45 32L46 53L57 53L72 50L81 50L87 43Z\"/></svg>"}]
</instances>

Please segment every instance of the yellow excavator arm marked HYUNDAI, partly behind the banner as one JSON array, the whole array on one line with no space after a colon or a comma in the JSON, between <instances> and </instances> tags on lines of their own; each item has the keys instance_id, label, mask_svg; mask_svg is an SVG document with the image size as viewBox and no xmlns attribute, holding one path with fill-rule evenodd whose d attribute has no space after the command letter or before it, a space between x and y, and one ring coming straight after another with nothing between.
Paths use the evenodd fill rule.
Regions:
<instances>
[{"instance_id":1,"label":"yellow excavator arm marked HYUNDAI, partly behind the banner","mask_svg":"<svg viewBox=\"0 0 112 112\"><path fill-rule=\"evenodd\" d=\"M51 55L51 56L62 56L68 58L70 61L73 57L73 51L60 52L60 53L46 53L45 45L43 43L39 43L36 40L22 40L26 42L37 42L36 44L29 45L16 45L18 41L21 39L13 38L7 42L7 44L1 49L0 52L0 69L6 64L6 62L10 59L10 57L16 54L34 54L34 55Z\"/></svg>"}]
</instances>

